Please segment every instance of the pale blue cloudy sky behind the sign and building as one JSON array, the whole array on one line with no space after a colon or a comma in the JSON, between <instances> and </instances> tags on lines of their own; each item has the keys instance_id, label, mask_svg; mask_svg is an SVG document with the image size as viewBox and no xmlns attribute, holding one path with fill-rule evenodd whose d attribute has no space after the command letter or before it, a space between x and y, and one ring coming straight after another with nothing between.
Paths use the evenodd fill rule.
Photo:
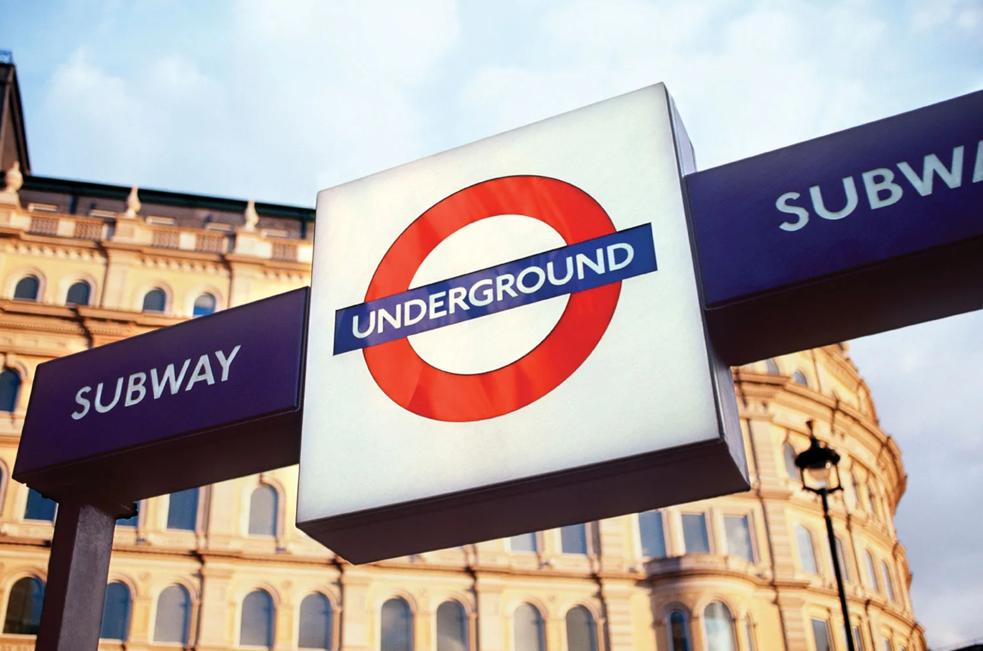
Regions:
<instances>
[{"instance_id":1,"label":"pale blue cloudy sky behind the sign and building","mask_svg":"<svg viewBox=\"0 0 983 651\"><path fill-rule=\"evenodd\" d=\"M319 189L656 82L700 168L983 89L983 0L0 0L34 174ZM930 645L983 638L983 312L851 342Z\"/></svg>"}]
</instances>

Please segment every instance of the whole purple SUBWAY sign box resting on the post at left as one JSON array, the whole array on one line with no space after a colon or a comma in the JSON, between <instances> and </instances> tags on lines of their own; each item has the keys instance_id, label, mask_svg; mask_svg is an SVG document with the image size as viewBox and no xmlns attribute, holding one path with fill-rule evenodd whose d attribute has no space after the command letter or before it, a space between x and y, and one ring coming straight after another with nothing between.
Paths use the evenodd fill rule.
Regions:
<instances>
[{"instance_id":1,"label":"whole purple SUBWAY sign box resting on the post at left","mask_svg":"<svg viewBox=\"0 0 983 651\"><path fill-rule=\"evenodd\" d=\"M38 365L14 479L125 502L296 463L308 295Z\"/></svg>"}]
</instances>

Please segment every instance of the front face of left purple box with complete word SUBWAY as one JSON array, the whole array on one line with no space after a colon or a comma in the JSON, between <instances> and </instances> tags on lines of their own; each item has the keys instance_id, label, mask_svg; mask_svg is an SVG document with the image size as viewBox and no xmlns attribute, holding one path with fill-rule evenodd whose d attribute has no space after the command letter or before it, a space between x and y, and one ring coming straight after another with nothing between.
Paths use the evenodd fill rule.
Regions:
<instances>
[{"instance_id":1,"label":"front face of left purple box with complete word SUBWAY","mask_svg":"<svg viewBox=\"0 0 983 651\"><path fill-rule=\"evenodd\" d=\"M307 291L38 365L15 477L299 409Z\"/></svg>"}]
</instances>

